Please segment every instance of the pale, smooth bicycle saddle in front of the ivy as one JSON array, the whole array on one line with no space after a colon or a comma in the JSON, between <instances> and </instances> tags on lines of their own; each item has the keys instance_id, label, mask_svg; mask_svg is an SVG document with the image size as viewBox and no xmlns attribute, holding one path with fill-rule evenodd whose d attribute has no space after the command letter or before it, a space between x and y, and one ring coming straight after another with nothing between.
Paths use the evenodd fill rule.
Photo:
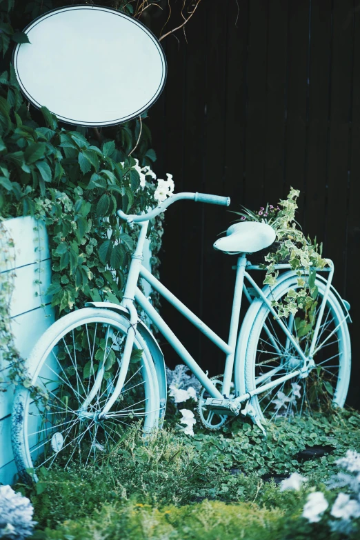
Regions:
<instances>
[{"instance_id":1,"label":"pale, smooth bicycle saddle in front of the ivy","mask_svg":"<svg viewBox=\"0 0 360 540\"><path fill-rule=\"evenodd\" d=\"M235 223L226 231L226 237L214 242L214 249L229 254L254 253L270 246L276 233L270 225L258 221Z\"/></svg>"}]
</instances>

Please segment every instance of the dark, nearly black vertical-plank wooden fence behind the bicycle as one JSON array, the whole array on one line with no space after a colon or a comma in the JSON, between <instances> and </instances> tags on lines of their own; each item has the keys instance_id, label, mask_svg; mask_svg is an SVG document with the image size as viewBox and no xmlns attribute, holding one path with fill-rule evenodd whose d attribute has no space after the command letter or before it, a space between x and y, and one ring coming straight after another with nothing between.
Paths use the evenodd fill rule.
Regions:
<instances>
[{"instance_id":1,"label":"dark, nearly black vertical-plank wooden fence behind the bicycle","mask_svg":"<svg viewBox=\"0 0 360 540\"><path fill-rule=\"evenodd\" d=\"M301 190L298 221L323 241L352 305L348 401L359 406L360 0L202 0L186 35L162 41L168 81L150 110L157 171L174 174L177 192L230 196L232 210ZM224 339L234 259L212 243L234 218L178 203L161 254L164 283ZM203 368L221 372L222 355L165 301L163 315Z\"/></svg>"}]
</instances>

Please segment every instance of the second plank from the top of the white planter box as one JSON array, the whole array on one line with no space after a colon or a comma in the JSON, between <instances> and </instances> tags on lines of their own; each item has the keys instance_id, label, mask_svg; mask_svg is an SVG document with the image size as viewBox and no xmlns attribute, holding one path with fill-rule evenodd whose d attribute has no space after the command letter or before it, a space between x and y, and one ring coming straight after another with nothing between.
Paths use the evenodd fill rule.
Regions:
<instances>
[{"instance_id":1,"label":"second plank from the top of the white planter box","mask_svg":"<svg viewBox=\"0 0 360 540\"><path fill-rule=\"evenodd\" d=\"M42 303L51 302L51 296L45 294L51 283L51 259L17 268L13 279L10 317L39 308Z\"/></svg>"}]
</instances>

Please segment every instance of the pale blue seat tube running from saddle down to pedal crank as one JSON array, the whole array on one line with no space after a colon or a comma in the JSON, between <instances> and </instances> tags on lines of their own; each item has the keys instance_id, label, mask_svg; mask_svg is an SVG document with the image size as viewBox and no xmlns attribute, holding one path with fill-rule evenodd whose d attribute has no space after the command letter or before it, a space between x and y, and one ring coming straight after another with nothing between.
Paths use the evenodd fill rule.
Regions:
<instances>
[{"instance_id":1,"label":"pale blue seat tube running from saddle down to pedal crank","mask_svg":"<svg viewBox=\"0 0 360 540\"><path fill-rule=\"evenodd\" d=\"M243 278L246 268L246 253L240 255L237 259L237 277L235 279L234 300L232 301L232 312L230 320L230 331L228 344L232 349L226 356L225 372L223 375L222 394L230 395L230 386L232 379L232 370L234 368L235 348L237 344L237 331L239 330L241 298L243 296Z\"/></svg>"}]
</instances>

